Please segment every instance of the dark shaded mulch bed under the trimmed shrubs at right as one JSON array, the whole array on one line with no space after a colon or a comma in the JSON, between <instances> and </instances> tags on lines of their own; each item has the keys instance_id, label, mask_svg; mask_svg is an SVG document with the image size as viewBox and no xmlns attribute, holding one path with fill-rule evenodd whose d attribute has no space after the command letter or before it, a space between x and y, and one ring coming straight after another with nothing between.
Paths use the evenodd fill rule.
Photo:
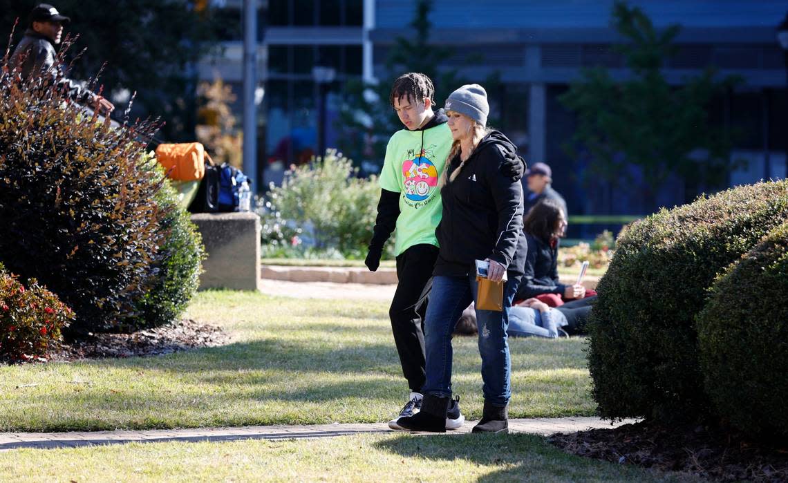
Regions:
<instances>
[{"instance_id":1,"label":"dark shaded mulch bed under the trimmed shrubs at right","mask_svg":"<svg viewBox=\"0 0 788 483\"><path fill-rule=\"evenodd\" d=\"M549 440L574 455L613 463L719 481L788 481L788 441L758 444L740 433L708 426L639 422L560 433Z\"/></svg>"}]
</instances>

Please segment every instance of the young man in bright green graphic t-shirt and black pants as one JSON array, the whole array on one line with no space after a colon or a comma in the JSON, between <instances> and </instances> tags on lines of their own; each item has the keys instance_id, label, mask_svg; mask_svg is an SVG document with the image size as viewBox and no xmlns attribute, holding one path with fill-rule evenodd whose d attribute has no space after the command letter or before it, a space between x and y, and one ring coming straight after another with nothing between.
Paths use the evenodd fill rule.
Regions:
<instances>
[{"instance_id":1,"label":"young man in bright green graphic t-shirt and black pants","mask_svg":"<svg viewBox=\"0 0 788 483\"><path fill-rule=\"evenodd\" d=\"M422 326L438 255L435 228L442 212L437 184L452 147L446 114L433 111L434 95L432 81L421 73L404 74L392 86L389 102L405 128L394 133L386 147L381 200L365 260L371 271L377 270L383 245L396 228L394 252L399 283L388 316L411 394L400 414L388 422L392 429L404 429L396 424L397 419L421 408L425 382ZM464 421L457 398L449 407L446 429L459 428Z\"/></svg>"}]
</instances>

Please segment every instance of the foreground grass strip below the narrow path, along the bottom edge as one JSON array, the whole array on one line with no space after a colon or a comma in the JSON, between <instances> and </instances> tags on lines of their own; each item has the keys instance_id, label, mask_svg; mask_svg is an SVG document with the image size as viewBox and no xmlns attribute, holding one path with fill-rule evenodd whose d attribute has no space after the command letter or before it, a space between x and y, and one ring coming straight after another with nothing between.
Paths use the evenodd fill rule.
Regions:
<instances>
[{"instance_id":1,"label":"foreground grass strip below the narrow path, along the bottom edge","mask_svg":"<svg viewBox=\"0 0 788 483\"><path fill-rule=\"evenodd\" d=\"M698 481L564 454L540 437L127 444L0 453L3 481Z\"/></svg>"}]
</instances>

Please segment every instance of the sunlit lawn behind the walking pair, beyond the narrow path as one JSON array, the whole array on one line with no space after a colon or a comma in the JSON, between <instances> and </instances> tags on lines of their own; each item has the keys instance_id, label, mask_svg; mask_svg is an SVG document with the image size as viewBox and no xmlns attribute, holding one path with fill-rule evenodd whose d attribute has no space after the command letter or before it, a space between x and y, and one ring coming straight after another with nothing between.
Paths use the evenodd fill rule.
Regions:
<instances>
[{"instance_id":1,"label":"sunlit lawn behind the walking pair, beyond the narrow path","mask_svg":"<svg viewBox=\"0 0 788 483\"><path fill-rule=\"evenodd\" d=\"M383 422L407 396L388 304L201 292L188 317L232 333L173 355L0 366L0 430ZM481 417L475 337L455 338L455 393ZM511 339L512 418L592 415L583 340Z\"/></svg>"}]
</instances>

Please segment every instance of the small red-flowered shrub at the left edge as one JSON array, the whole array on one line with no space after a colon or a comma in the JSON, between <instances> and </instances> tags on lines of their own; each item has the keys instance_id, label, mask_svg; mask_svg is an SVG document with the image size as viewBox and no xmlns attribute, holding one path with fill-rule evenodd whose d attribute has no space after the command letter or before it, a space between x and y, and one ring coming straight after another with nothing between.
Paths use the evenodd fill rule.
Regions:
<instances>
[{"instance_id":1,"label":"small red-flowered shrub at the left edge","mask_svg":"<svg viewBox=\"0 0 788 483\"><path fill-rule=\"evenodd\" d=\"M0 264L0 361L28 361L46 355L61 339L74 314L57 295L28 280L28 288Z\"/></svg>"}]
</instances>

